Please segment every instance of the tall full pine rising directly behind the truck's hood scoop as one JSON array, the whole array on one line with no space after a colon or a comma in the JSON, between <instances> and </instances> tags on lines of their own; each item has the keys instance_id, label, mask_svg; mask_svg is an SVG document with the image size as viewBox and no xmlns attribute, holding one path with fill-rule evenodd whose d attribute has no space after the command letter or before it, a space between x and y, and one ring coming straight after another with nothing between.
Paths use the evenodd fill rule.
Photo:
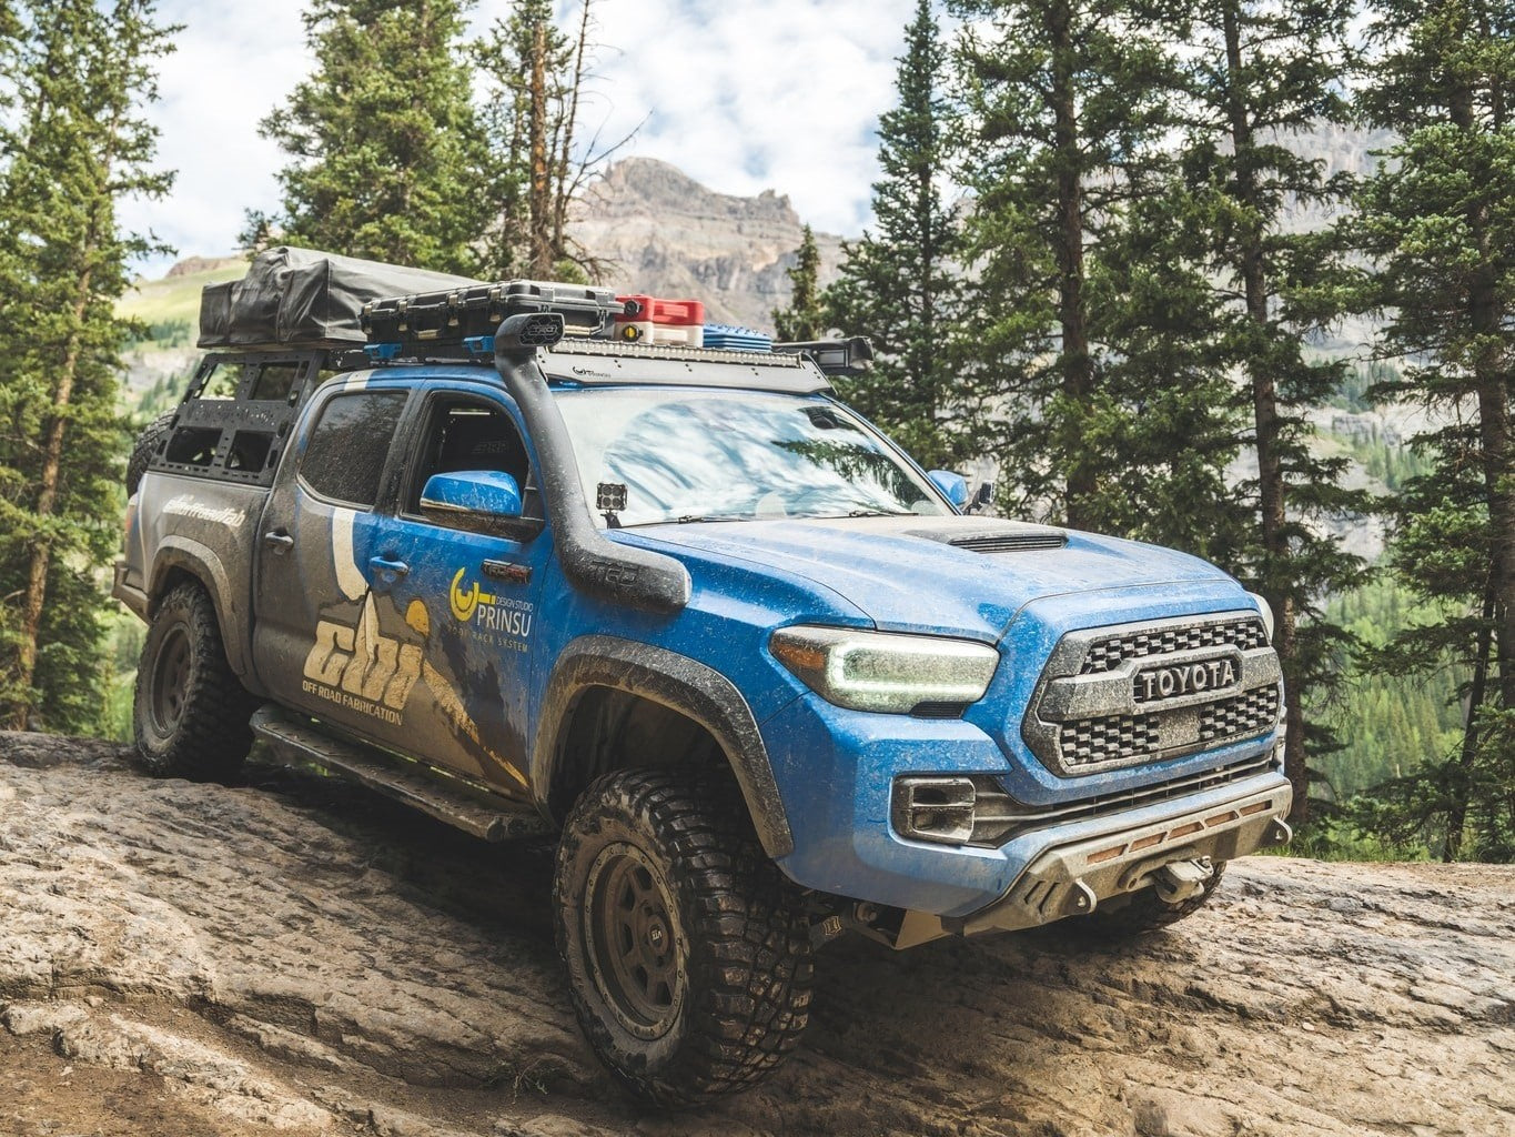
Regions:
<instances>
[{"instance_id":1,"label":"tall full pine rising directly behind the truck's hood scoop","mask_svg":"<svg viewBox=\"0 0 1515 1137\"><path fill-rule=\"evenodd\" d=\"M1177 53L1141 0L956 0L967 261L1004 503L1218 556L1239 446L1191 235L1176 224Z\"/></svg>"}]
</instances>

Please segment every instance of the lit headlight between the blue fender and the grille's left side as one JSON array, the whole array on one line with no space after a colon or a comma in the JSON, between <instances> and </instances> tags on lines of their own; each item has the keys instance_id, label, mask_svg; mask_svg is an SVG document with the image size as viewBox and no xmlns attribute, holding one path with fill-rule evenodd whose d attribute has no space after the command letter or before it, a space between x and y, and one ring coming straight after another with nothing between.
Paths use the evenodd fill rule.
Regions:
<instances>
[{"instance_id":1,"label":"lit headlight between the blue fender and the grille's left side","mask_svg":"<svg viewBox=\"0 0 1515 1137\"><path fill-rule=\"evenodd\" d=\"M982 643L847 628L780 628L768 649L826 702L891 714L977 702L1000 662Z\"/></svg>"}]
</instances>

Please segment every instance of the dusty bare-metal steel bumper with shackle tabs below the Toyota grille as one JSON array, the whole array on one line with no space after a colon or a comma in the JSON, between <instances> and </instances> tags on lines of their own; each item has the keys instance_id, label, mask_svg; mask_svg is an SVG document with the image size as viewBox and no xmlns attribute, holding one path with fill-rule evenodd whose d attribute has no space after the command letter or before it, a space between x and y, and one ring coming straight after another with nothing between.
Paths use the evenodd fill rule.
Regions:
<instances>
[{"instance_id":1,"label":"dusty bare-metal steel bumper with shackle tabs below the Toyota grille","mask_svg":"<svg viewBox=\"0 0 1515 1137\"><path fill-rule=\"evenodd\" d=\"M1195 808L1192 797L1170 803L1141 825L1085 837L1042 850L994 904L942 928L961 935L1035 928L1065 916L1088 916L1101 901L1151 887L1176 861L1230 861L1288 843L1283 819L1292 793L1282 775L1245 782L1247 791ZM1238 787L1239 788L1239 787Z\"/></svg>"}]
</instances>

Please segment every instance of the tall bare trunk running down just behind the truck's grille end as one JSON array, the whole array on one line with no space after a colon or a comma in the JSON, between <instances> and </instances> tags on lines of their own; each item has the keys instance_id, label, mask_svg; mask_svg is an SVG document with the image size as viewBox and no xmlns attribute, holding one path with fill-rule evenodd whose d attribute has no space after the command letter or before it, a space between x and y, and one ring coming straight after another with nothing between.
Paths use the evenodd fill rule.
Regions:
<instances>
[{"instance_id":1,"label":"tall bare trunk running down just behind the truck's grille end","mask_svg":"<svg viewBox=\"0 0 1515 1137\"><path fill-rule=\"evenodd\" d=\"M1238 236L1238 270L1245 296L1247 318L1259 334L1268 330L1268 270L1262 247L1262 230L1256 224L1257 179L1253 168L1256 143L1247 103L1242 97L1241 5L1227 0L1223 8L1226 35L1226 111L1230 123L1232 161L1236 164L1236 199L1250 211L1253 221ZM1304 706L1300 702L1297 676L1298 612L1294 597L1279 582L1288 561L1288 484L1283 479L1283 456L1279 440L1279 388L1273 373L1256 364L1248 368L1251 408L1257 449L1257 511L1265 553L1262 597L1273 608L1273 647L1283 666L1285 741L1283 772L1294 790L1289 817L1309 817L1310 775L1304 753Z\"/></svg>"}]
</instances>

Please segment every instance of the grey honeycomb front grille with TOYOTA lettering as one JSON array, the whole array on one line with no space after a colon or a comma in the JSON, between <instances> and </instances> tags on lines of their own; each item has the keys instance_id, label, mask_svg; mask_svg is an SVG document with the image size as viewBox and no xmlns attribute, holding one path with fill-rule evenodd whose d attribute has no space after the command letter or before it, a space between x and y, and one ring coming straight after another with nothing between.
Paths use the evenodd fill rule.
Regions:
<instances>
[{"instance_id":1,"label":"grey honeycomb front grille with TOYOTA lettering","mask_svg":"<svg viewBox=\"0 0 1515 1137\"><path fill-rule=\"evenodd\" d=\"M1273 731L1280 678L1251 612L1068 632L1021 734L1065 778L1167 761Z\"/></svg>"}]
</instances>

